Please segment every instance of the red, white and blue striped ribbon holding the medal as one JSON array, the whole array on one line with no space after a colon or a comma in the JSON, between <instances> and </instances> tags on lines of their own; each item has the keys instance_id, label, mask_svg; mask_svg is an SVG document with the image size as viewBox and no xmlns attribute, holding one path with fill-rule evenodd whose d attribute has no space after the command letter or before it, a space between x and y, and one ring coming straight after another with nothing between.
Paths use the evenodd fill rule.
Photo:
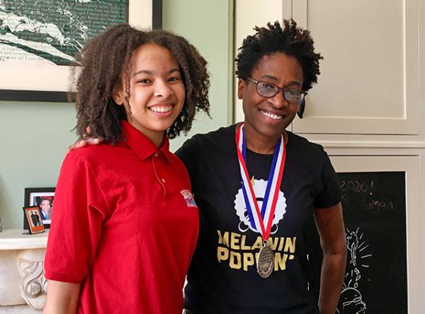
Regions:
<instances>
[{"instance_id":1,"label":"red, white and blue striped ribbon holding the medal","mask_svg":"<svg viewBox=\"0 0 425 314\"><path fill-rule=\"evenodd\" d=\"M249 215L249 221L251 223L251 227L258 230L261 233L263 240L267 241L270 236L271 225L276 211L276 203L278 203L283 169L285 168L285 141L283 140L283 135L281 135L276 143L276 149L273 155L270 172L268 174L268 182L261 211L259 209L259 204L256 201L251 180L249 179L248 169L246 168L246 140L243 123L239 126L239 128L237 128L235 141L237 159L239 160L239 168L242 176L242 191L244 194L246 210Z\"/></svg>"}]
</instances>

